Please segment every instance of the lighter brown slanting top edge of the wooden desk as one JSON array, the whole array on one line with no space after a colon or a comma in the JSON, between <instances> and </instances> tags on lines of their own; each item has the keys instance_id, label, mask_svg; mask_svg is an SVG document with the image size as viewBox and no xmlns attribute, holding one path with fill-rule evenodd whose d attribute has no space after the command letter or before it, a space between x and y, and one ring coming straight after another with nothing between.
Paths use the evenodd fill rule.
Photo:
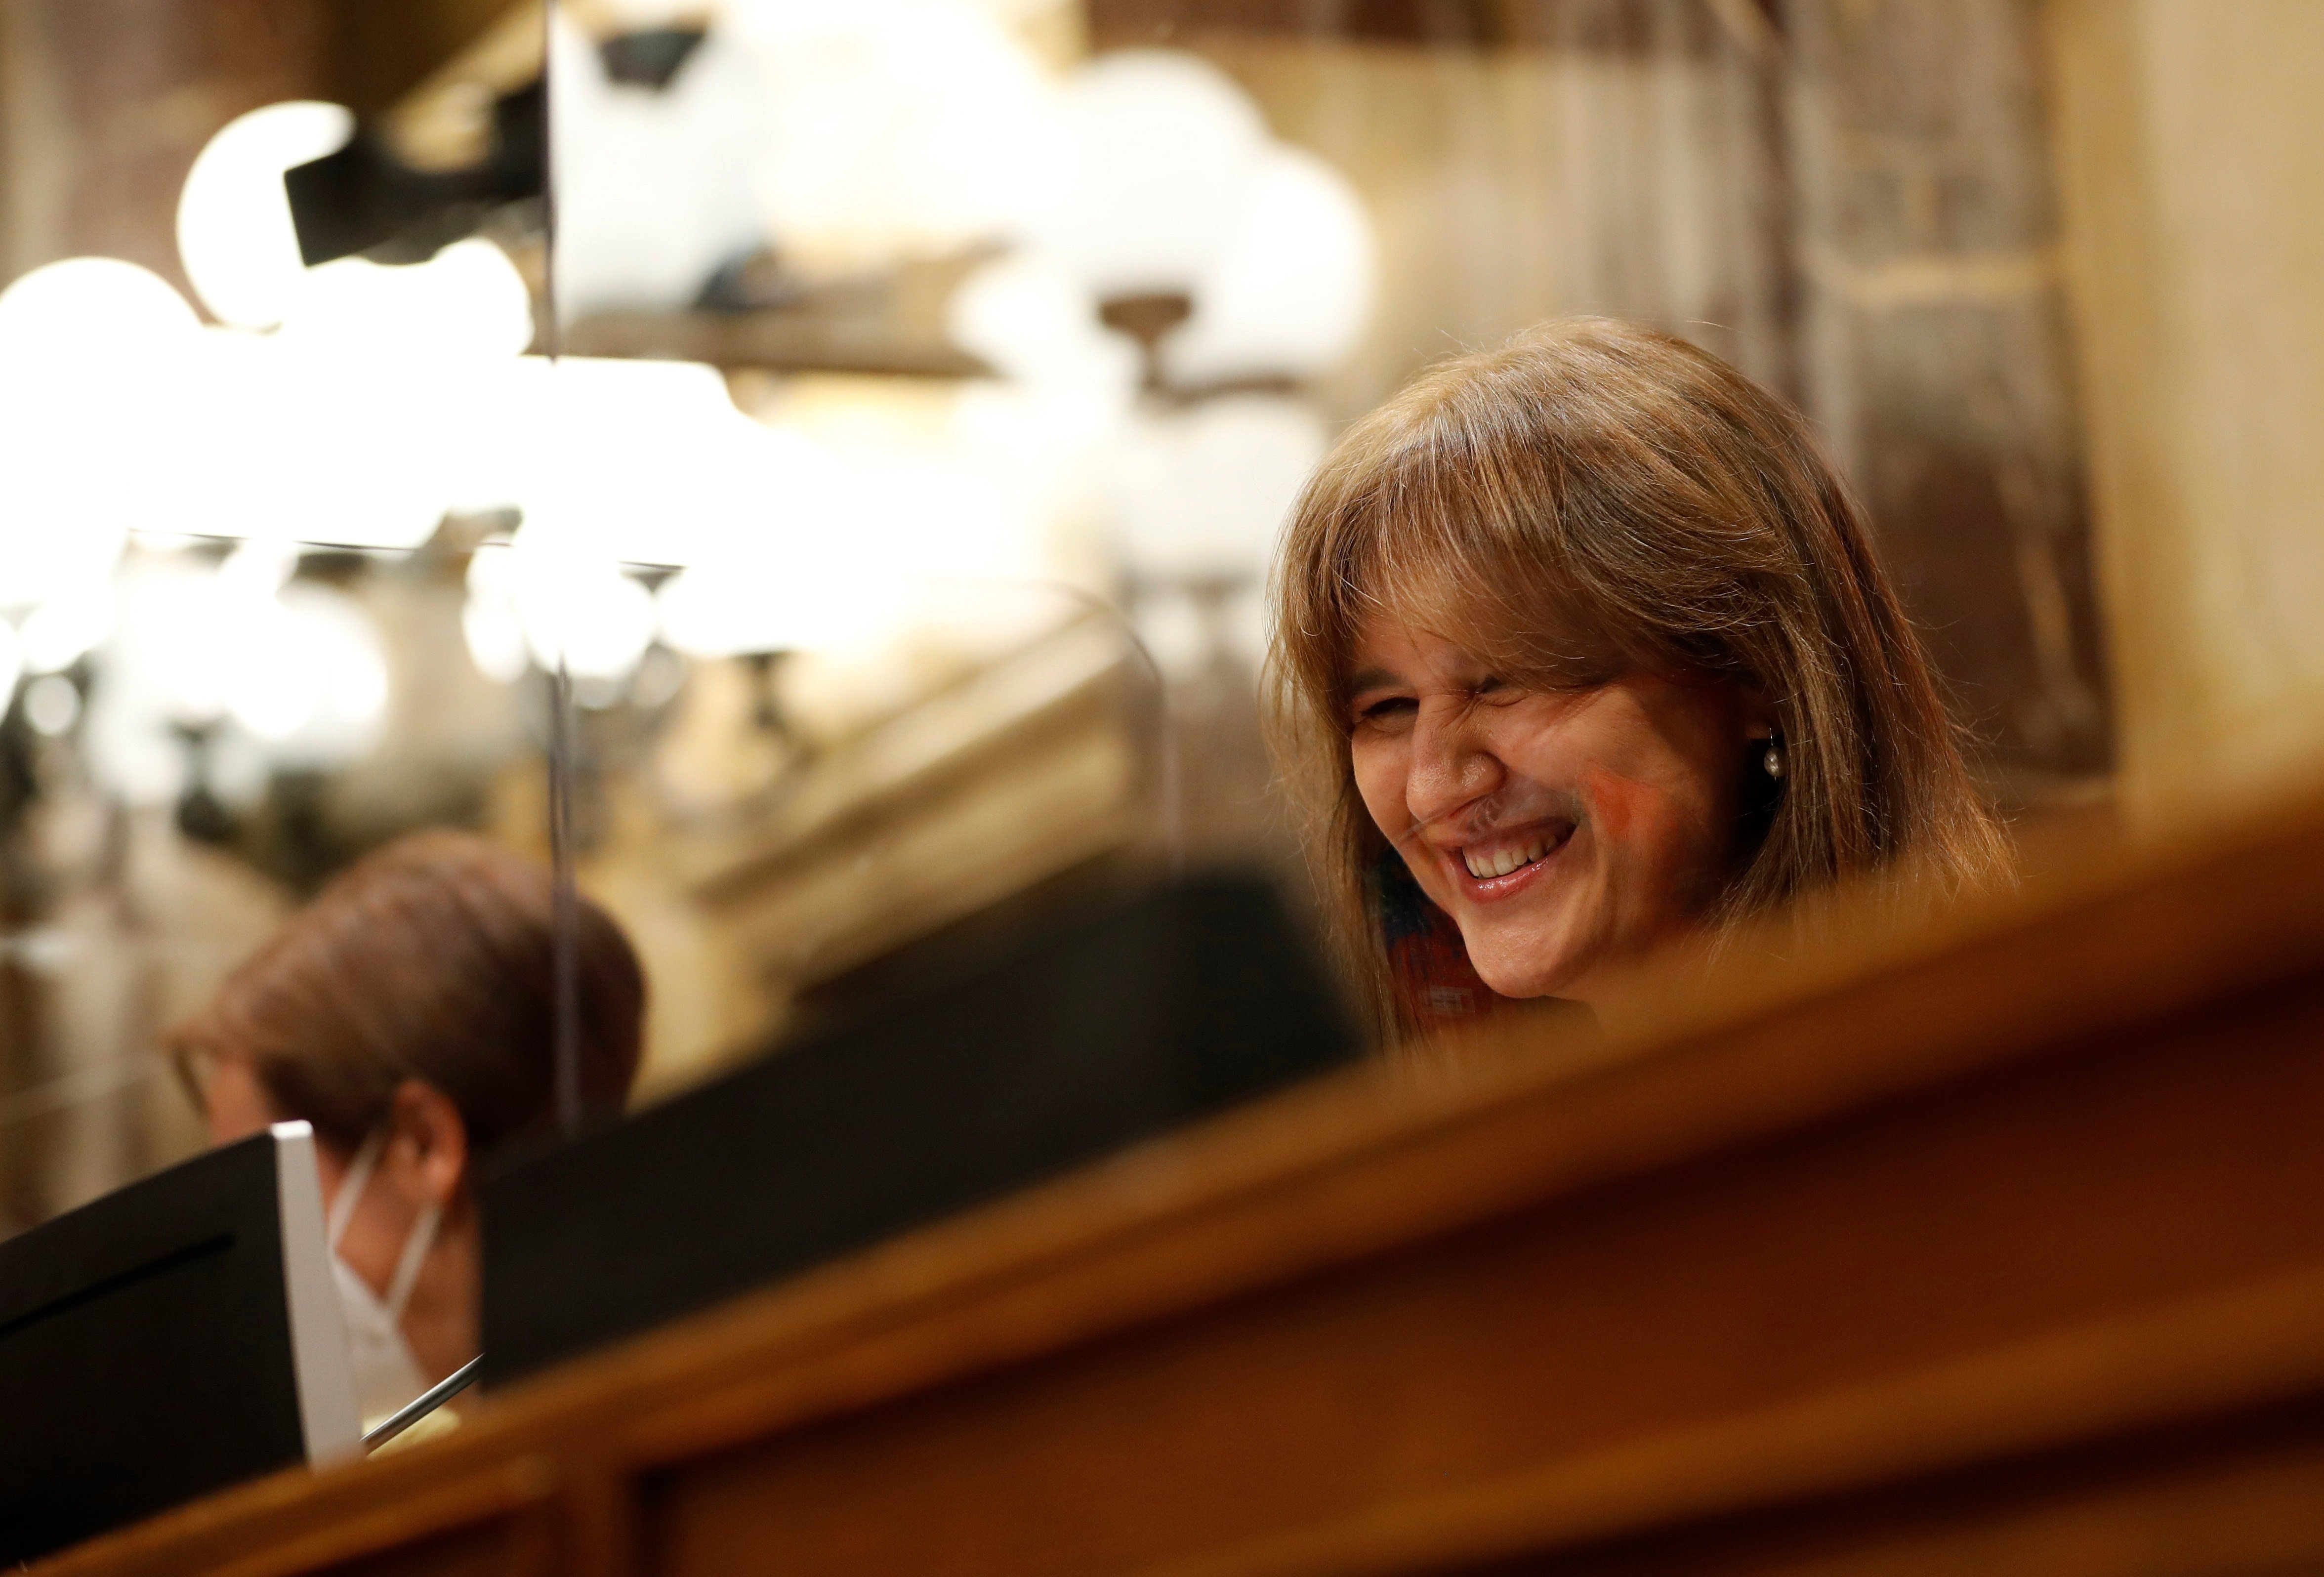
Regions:
<instances>
[{"instance_id":1,"label":"lighter brown slanting top edge of the wooden desk","mask_svg":"<svg viewBox=\"0 0 2324 1577\"><path fill-rule=\"evenodd\" d=\"M274 1475L37 1570L186 1570L514 1461L648 1470L2319 964L2324 815L2298 806L1789 982L1713 982L1631 1040L1480 1036L1285 1092L574 1361L442 1442ZM1994 978L2010 989L1957 989Z\"/></svg>"}]
</instances>

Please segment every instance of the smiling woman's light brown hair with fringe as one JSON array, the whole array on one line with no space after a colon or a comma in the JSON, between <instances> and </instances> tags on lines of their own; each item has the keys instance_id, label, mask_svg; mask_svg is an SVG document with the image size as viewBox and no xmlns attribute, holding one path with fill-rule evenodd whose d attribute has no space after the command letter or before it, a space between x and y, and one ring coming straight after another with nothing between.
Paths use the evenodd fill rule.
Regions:
<instances>
[{"instance_id":1,"label":"smiling woman's light brown hair with fringe","mask_svg":"<svg viewBox=\"0 0 2324 1577\"><path fill-rule=\"evenodd\" d=\"M1346 715L1373 613L1518 683L1641 664L1762 692L1787 769L1713 927L1875 869L2006 866L1862 506L1799 411L1683 339L1569 318L1422 374L1308 481L1271 590L1278 757L1387 1031L1413 1015L1387 985L1385 843Z\"/></svg>"}]
</instances>

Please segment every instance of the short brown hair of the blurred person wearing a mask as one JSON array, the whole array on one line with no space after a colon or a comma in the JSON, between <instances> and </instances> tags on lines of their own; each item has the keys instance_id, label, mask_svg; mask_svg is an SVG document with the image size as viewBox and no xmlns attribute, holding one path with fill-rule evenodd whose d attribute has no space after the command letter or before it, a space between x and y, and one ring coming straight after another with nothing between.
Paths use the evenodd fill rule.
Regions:
<instances>
[{"instance_id":1,"label":"short brown hair of the blurred person wearing a mask","mask_svg":"<svg viewBox=\"0 0 2324 1577\"><path fill-rule=\"evenodd\" d=\"M618 1112L637 1075L646 982L621 927L576 906L579 1085ZM555 1112L548 871L458 831L400 838L342 871L170 1036L179 1073L246 1057L274 1103L339 1147L397 1085L437 1087L472 1154L544 1136Z\"/></svg>"}]
</instances>

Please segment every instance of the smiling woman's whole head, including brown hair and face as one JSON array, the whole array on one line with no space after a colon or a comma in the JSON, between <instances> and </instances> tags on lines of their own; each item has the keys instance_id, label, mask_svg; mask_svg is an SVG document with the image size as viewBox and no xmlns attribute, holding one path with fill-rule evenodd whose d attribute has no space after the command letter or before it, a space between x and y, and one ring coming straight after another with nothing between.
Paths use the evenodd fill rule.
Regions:
<instances>
[{"instance_id":1,"label":"smiling woman's whole head, including brown hair and face","mask_svg":"<svg viewBox=\"0 0 2324 1577\"><path fill-rule=\"evenodd\" d=\"M1492 992L1590 999L1673 934L2001 862L1862 509L1680 339L1564 321L1422 374L1311 478L1274 602L1281 748L1380 1008L1406 880Z\"/></svg>"}]
</instances>

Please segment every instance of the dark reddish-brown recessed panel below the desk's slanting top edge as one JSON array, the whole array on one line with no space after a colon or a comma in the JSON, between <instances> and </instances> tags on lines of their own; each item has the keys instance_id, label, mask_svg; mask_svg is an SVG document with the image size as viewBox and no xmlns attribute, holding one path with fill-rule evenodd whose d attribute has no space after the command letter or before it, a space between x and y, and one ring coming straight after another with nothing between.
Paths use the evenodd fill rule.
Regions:
<instances>
[{"instance_id":1,"label":"dark reddish-brown recessed panel below the desk's slanting top edge","mask_svg":"<svg viewBox=\"0 0 2324 1577\"><path fill-rule=\"evenodd\" d=\"M1334 1524L1513 1475L1571 1538L1562 1463L2324 1266L2319 1040L2324 996L2273 994L688 1466L653 1570L1371 1570ZM1882 1433L1796 1472L1910 1452Z\"/></svg>"}]
</instances>

